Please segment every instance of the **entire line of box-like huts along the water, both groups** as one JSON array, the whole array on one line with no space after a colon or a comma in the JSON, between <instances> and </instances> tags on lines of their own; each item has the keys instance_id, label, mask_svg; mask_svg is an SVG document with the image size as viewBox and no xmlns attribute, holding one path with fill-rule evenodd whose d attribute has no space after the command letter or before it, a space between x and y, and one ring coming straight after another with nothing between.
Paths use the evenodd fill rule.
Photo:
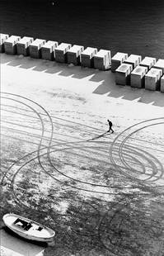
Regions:
<instances>
[{"instance_id":1,"label":"entire line of box-like huts along the water, both groups","mask_svg":"<svg viewBox=\"0 0 164 256\"><path fill-rule=\"evenodd\" d=\"M24 55L35 59L55 60L59 63L115 72L115 83L164 92L164 59L118 52L112 58L110 50L71 45L33 37L0 34L0 52Z\"/></svg>"}]
</instances>

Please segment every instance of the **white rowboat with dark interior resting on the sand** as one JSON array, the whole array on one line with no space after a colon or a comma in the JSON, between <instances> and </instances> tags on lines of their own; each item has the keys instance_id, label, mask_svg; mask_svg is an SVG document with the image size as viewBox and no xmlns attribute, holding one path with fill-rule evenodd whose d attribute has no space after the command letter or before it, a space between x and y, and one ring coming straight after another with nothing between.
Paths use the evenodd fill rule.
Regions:
<instances>
[{"instance_id":1,"label":"white rowboat with dark interior resting on the sand","mask_svg":"<svg viewBox=\"0 0 164 256\"><path fill-rule=\"evenodd\" d=\"M52 244L54 241L54 230L40 225L34 220L18 216L14 213L7 213L2 217L4 224L8 229L12 230L16 235L33 241L45 242Z\"/></svg>"}]
</instances>

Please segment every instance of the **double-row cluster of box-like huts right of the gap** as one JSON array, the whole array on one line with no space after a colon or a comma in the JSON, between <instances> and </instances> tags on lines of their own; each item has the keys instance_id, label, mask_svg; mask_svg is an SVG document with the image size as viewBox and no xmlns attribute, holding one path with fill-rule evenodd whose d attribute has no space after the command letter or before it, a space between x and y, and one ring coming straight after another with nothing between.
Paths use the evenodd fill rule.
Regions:
<instances>
[{"instance_id":1,"label":"double-row cluster of box-like huts right of the gap","mask_svg":"<svg viewBox=\"0 0 164 256\"><path fill-rule=\"evenodd\" d=\"M164 92L164 59L117 53L112 62L115 83Z\"/></svg>"}]
</instances>

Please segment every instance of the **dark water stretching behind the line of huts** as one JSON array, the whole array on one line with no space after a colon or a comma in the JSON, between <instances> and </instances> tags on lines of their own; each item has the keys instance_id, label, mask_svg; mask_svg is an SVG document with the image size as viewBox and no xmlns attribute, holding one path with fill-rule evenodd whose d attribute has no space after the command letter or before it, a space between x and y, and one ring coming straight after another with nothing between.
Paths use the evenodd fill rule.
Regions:
<instances>
[{"instance_id":1,"label":"dark water stretching behind the line of huts","mask_svg":"<svg viewBox=\"0 0 164 256\"><path fill-rule=\"evenodd\" d=\"M2 33L164 59L164 0L0 0L0 10Z\"/></svg>"}]
</instances>

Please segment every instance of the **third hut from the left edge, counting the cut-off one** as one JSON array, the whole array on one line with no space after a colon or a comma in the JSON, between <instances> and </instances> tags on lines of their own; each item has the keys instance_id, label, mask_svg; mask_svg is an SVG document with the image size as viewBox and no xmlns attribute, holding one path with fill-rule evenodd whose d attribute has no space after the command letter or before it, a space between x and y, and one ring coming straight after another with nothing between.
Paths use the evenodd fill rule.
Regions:
<instances>
[{"instance_id":1,"label":"third hut from the left edge, counting the cut-off one","mask_svg":"<svg viewBox=\"0 0 164 256\"><path fill-rule=\"evenodd\" d=\"M23 38L21 38L21 40L19 40L16 44L17 55L30 55L29 45L33 42L33 40L33 37L28 36L24 36Z\"/></svg>"}]
</instances>

